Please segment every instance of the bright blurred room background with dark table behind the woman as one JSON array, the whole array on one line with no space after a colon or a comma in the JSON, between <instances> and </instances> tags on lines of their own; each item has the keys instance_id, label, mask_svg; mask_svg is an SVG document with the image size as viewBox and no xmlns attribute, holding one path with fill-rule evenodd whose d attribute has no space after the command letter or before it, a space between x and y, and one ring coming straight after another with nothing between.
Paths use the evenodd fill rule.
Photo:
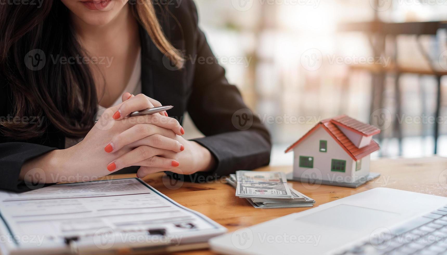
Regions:
<instances>
[{"instance_id":1,"label":"bright blurred room background with dark table behind the woman","mask_svg":"<svg viewBox=\"0 0 447 255\"><path fill-rule=\"evenodd\" d=\"M272 165L292 164L284 150L341 114L382 130L372 157L447 156L447 0L195 2L228 80L272 134Z\"/></svg>"}]
</instances>

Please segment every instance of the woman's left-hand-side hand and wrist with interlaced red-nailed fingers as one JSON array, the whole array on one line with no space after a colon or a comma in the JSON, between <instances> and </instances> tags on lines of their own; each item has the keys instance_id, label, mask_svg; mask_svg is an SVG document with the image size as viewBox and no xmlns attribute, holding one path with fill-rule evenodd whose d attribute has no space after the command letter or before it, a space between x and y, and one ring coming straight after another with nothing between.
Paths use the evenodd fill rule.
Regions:
<instances>
[{"instance_id":1,"label":"woman's left-hand-side hand and wrist with interlaced red-nailed fingers","mask_svg":"<svg viewBox=\"0 0 447 255\"><path fill-rule=\"evenodd\" d=\"M45 172L46 183L57 183L89 181L127 166L166 170L179 166L173 159L157 156L184 149L175 140L176 135L184 133L176 119L162 114L122 118L150 107L154 104L144 95L110 107L79 144L26 162L21 177L26 179L26 171L36 167ZM120 118L116 118L116 112Z\"/></svg>"}]
</instances>

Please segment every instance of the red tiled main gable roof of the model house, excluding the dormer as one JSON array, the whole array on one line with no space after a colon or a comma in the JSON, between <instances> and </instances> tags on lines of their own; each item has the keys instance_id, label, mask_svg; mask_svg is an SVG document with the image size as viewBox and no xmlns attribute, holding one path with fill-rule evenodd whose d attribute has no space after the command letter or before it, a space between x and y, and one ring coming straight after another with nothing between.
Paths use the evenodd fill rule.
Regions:
<instances>
[{"instance_id":1,"label":"red tiled main gable roof of the model house, excluding the dormer","mask_svg":"<svg viewBox=\"0 0 447 255\"><path fill-rule=\"evenodd\" d=\"M333 139L338 144L340 144L340 146L346 151L346 153L348 153L348 155L352 157L355 161L363 157L366 157L369 154L380 149L379 144L377 144L374 140L371 140L371 143L368 144L367 146L358 149L334 123L336 122L333 121L333 119L324 119L320 121L320 123L316 124L315 127L312 127L312 129L309 130L303 137L301 137L298 141L289 146L289 148L286 149L286 153L295 148L296 145L298 145L306 137L312 134L318 127L323 127L329 133L329 135L331 135Z\"/></svg>"}]
</instances>

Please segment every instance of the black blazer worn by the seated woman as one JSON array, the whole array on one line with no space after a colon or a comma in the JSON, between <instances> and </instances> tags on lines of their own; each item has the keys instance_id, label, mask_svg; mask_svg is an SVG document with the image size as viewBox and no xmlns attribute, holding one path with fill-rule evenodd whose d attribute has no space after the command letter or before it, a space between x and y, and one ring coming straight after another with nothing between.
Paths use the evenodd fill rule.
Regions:
<instances>
[{"instance_id":1,"label":"black blazer worn by the seated woman","mask_svg":"<svg viewBox=\"0 0 447 255\"><path fill-rule=\"evenodd\" d=\"M187 111L194 124L206 136L194 140L210 150L216 159L216 167L214 171L185 178L197 179L197 175L205 174L223 176L236 170L268 165L271 149L269 133L255 115L244 115L245 110L238 112L239 117L237 114L233 116L247 106L238 89L228 84L224 69L216 61L209 61L215 59L215 56L205 35L198 28L194 2L181 0L180 3L167 5L173 15L168 14L163 7L157 6L156 9L167 38L185 55L185 66L180 70L172 68L152 43L148 33L140 29L141 82L142 93L163 105L175 106L169 110L169 116L181 122ZM208 61L204 63L198 61L200 59ZM0 116L12 115L14 102L9 85L4 80L0 82ZM237 121L251 126L246 129ZM51 150L64 149L64 146L65 137L52 126L43 136L27 141L6 138L0 134L0 189L27 190L18 178L23 163Z\"/></svg>"}]
</instances>

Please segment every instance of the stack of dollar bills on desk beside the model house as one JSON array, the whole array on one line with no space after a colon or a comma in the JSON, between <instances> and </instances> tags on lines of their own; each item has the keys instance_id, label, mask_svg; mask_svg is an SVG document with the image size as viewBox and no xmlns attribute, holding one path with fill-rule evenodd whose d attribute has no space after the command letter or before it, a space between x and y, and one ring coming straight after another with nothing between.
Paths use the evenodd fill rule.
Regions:
<instances>
[{"instance_id":1,"label":"stack of dollar bills on desk beside the model house","mask_svg":"<svg viewBox=\"0 0 447 255\"><path fill-rule=\"evenodd\" d=\"M282 172L237 171L227 178L236 196L247 199L255 208L312 207L315 200L287 185Z\"/></svg>"}]
</instances>

